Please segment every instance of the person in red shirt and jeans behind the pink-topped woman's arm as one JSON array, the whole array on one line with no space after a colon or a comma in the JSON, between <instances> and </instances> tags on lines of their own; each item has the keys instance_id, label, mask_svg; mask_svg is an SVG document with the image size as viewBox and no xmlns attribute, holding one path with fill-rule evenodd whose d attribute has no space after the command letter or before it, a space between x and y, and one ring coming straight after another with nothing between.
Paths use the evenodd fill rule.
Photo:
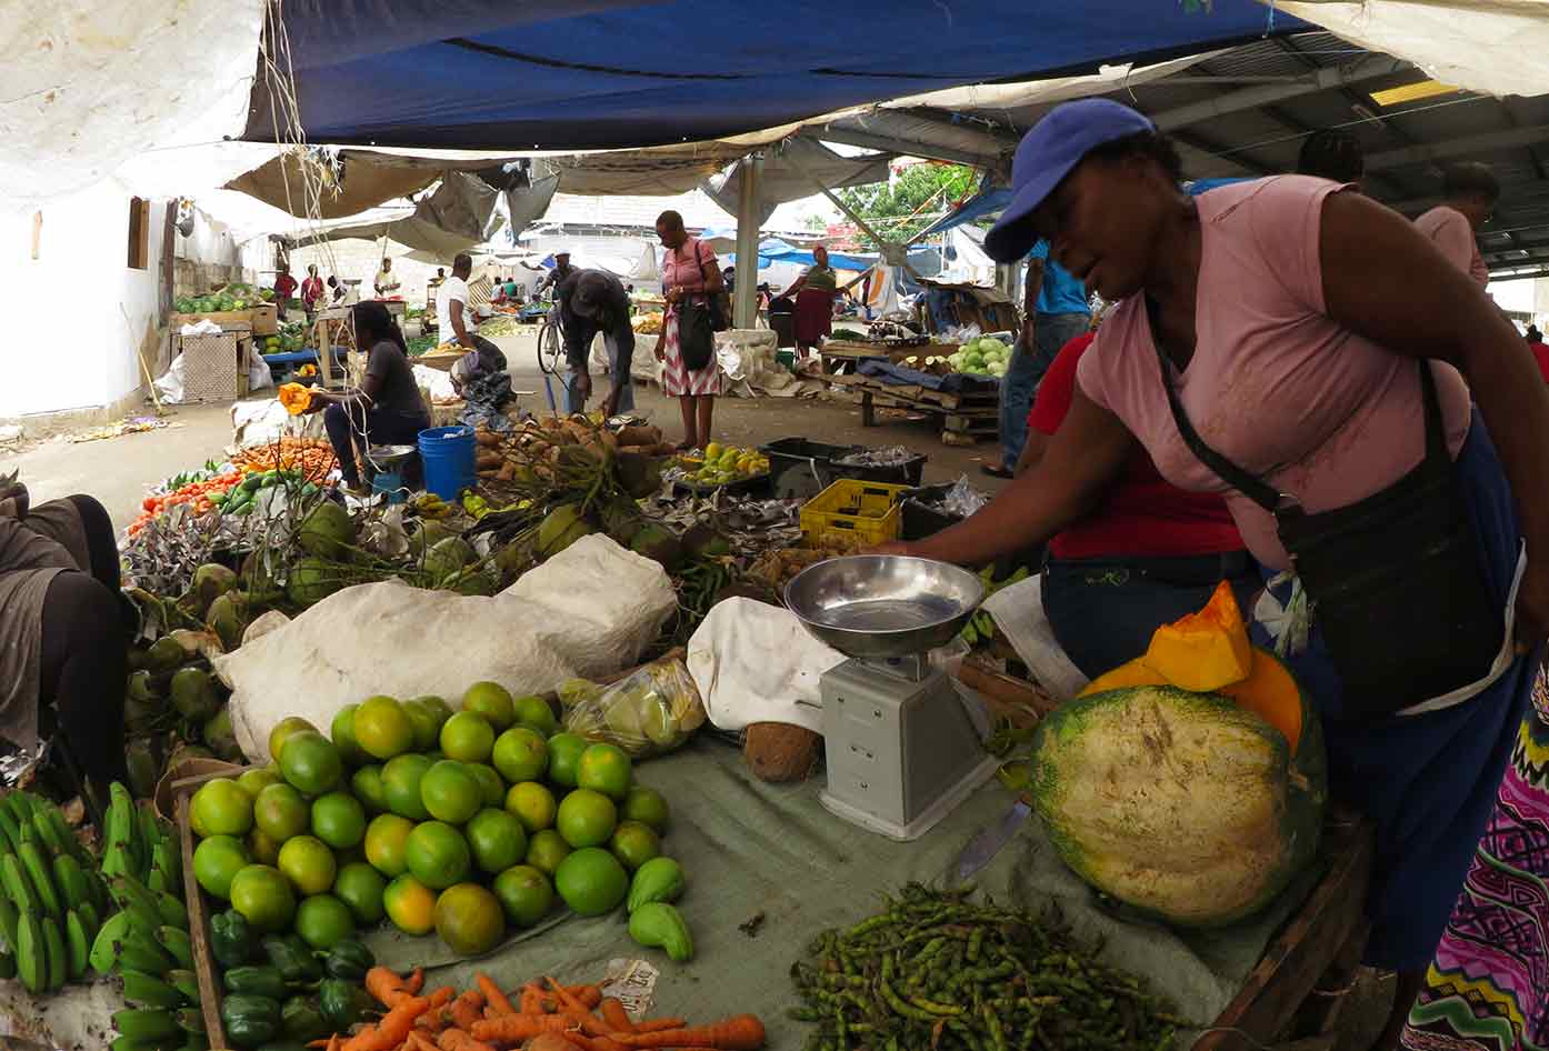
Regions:
<instances>
[{"instance_id":1,"label":"person in red shirt and jeans behind the pink-topped woman's arm","mask_svg":"<svg viewBox=\"0 0 1549 1051\"><path fill-rule=\"evenodd\" d=\"M1075 368L1097 339L1061 348L1038 385L1016 472L1042 457L1075 392ZM1049 540L1044 616L1066 656L1087 678L1146 652L1162 624L1194 613L1221 580L1253 608L1262 577L1221 497L1183 492L1162 480L1135 446L1125 474L1089 515Z\"/></svg>"}]
</instances>

